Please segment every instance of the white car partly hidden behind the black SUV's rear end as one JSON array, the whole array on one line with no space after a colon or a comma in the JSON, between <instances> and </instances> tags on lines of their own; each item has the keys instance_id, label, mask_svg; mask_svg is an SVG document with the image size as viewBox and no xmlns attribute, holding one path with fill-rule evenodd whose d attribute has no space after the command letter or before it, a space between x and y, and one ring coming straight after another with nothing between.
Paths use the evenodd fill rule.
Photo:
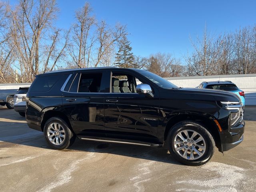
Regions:
<instances>
[{"instance_id":1,"label":"white car partly hidden behind the black SUV's rear end","mask_svg":"<svg viewBox=\"0 0 256 192\"><path fill-rule=\"evenodd\" d=\"M14 95L14 110L21 116L25 116L26 112L26 94L29 87L20 87L18 92Z\"/></svg>"}]
</instances>

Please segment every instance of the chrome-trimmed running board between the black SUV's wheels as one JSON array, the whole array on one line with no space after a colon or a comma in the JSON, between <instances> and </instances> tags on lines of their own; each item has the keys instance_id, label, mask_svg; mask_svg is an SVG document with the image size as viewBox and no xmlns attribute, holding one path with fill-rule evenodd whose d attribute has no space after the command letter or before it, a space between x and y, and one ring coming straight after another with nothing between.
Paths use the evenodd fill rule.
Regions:
<instances>
[{"instance_id":1,"label":"chrome-trimmed running board between the black SUV's wheels","mask_svg":"<svg viewBox=\"0 0 256 192\"><path fill-rule=\"evenodd\" d=\"M97 138L97 137L88 137L88 136L77 136L81 140L89 140L89 141L98 141L98 142L108 142L108 143L121 143L121 144L130 144L130 145L140 145L140 146L148 146L148 147L162 147L163 144L156 143L148 143L134 140L120 140L116 138Z\"/></svg>"}]
</instances>

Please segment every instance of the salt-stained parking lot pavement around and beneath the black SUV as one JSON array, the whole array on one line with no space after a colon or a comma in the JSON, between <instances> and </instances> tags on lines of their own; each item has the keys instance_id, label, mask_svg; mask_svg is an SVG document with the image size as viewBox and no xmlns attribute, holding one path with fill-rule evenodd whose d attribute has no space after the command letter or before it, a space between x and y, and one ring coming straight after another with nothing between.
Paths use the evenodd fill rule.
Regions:
<instances>
[{"instance_id":1,"label":"salt-stained parking lot pavement around and beneath the black SUV","mask_svg":"<svg viewBox=\"0 0 256 192\"><path fill-rule=\"evenodd\" d=\"M256 106L246 107L244 141L216 149L203 166L176 162L163 148L80 141L50 149L43 133L14 110L0 107L0 191L254 192Z\"/></svg>"}]
</instances>

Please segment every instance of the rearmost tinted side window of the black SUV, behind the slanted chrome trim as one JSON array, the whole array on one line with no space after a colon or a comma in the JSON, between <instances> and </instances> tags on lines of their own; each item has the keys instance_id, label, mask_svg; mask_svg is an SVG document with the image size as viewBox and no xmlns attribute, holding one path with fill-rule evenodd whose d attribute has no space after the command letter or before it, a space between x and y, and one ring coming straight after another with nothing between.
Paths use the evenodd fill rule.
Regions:
<instances>
[{"instance_id":1,"label":"rearmost tinted side window of the black SUV, behind the slanted chrome trim","mask_svg":"<svg viewBox=\"0 0 256 192\"><path fill-rule=\"evenodd\" d=\"M49 91L59 79L58 75L37 77L30 87L30 92Z\"/></svg>"}]
</instances>

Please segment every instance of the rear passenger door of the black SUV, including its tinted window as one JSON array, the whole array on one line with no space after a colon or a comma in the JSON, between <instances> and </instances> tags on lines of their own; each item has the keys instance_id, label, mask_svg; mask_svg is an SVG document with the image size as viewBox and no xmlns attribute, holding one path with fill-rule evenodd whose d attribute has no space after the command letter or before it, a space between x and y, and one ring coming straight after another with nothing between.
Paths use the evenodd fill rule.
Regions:
<instances>
[{"instance_id":1,"label":"rear passenger door of the black SUV, including its tinted window","mask_svg":"<svg viewBox=\"0 0 256 192\"><path fill-rule=\"evenodd\" d=\"M104 72L70 75L62 88L63 106L73 130L81 136L106 136L104 128Z\"/></svg>"}]
</instances>

